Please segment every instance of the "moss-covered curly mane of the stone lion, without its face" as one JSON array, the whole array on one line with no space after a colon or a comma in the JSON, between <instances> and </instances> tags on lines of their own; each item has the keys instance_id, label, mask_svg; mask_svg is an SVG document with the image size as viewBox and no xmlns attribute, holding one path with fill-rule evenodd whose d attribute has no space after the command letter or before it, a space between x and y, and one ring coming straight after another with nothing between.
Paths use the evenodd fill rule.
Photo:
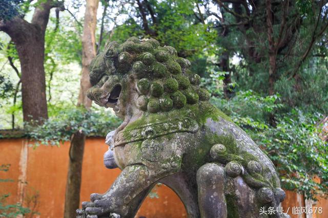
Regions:
<instances>
[{"instance_id":1,"label":"moss-covered curly mane of the stone lion, without its face","mask_svg":"<svg viewBox=\"0 0 328 218\"><path fill-rule=\"evenodd\" d=\"M207 102L210 94L199 88L199 75L188 69L190 61L178 57L173 47L161 47L156 39L140 40L131 37L121 45L117 42L108 43L106 51L110 51L107 53L110 58L107 58L104 52L92 61L90 81L93 85L101 83L104 73L114 74L127 79L128 82L137 81L136 89L140 96L143 96L136 99L140 110L149 111L149 107L152 112L158 111L154 101L150 102L150 99L157 99L160 104L159 110L163 112L168 112L172 108L192 106L193 112L202 111L199 113L199 120L203 121L208 117L216 119L216 115L221 116L221 113L216 113L217 110L210 106L203 108L202 103L210 105ZM93 89L92 93L96 94L96 89Z\"/></svg>"}]
</instances>

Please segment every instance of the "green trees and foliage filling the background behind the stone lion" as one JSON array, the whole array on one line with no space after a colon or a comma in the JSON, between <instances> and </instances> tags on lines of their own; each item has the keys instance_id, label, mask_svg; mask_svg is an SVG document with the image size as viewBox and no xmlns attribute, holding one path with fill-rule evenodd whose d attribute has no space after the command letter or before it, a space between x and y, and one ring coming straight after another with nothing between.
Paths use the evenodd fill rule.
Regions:
<instances>
[{"instance_id":1,"label":"green trees and foliage filling the background behind the stone lion","mask_svg":"<svg viewBox=\"0 0 328 218\"><path fill-rule=\"evenodd\" d=\"M77 130L105 136L119 123L110 110L76 108L85 19L78 0L0 3L0 128L24 128L22 45L5 24L33 22L43 4L54 8L42 60L49 119L39 127L26 123L26 134L53 144ZM327 197L328 148L318 135L328 115L328 1L101 0L97 16L96 52L131 36L175 47L212 102L267 152L284 188Z\"/></svg>"}]
</instances>

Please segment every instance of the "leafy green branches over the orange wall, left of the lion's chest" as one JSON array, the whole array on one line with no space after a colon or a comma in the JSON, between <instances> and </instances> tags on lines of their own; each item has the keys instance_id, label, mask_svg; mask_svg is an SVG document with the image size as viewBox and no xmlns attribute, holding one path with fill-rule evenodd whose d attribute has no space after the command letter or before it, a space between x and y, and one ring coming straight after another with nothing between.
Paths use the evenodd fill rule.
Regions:
<instances>
[{"instance_id":1,"label":"leafy green branches over the orange wall, left of the lion's chest","mask_svg":"<svg viewBox=\"0 0 328 218\"><path fill-rule=\"evenodd\" d=\"M82 107L68 108L60 111L53 110L53 117L42 125L26 123L27 136L35 140L34 146L57 145L69 141L77 131L88 136L106 136L115 129L120 121L111 113L104 111L87 111Z\"/></svg>"}]
</instances>

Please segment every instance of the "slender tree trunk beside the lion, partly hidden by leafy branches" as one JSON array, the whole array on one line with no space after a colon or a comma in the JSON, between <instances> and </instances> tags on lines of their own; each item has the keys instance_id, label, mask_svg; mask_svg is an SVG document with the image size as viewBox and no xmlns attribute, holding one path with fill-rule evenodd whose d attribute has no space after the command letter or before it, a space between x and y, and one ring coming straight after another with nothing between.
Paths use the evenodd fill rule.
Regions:
<instances>
[{"instance_id":1,"label":"slender tree trunk beside the lion, partly hidden by leafy branches","mask_svg":"<svg viewBox=\"0 0 328 218\"><path fill-rule=\"evenodd\" d=\"M87 0L84 19L84 30L82 36L82 73L80 79L80 91L78 105L87 109L91 107L91 100L87 98L87 90L91 87L89 81L89 67L91 60L96 56L95 49L95 29L97 22L97 9L99 0ZM80 187L82 163L84 155L86 135L77 132L72 136L70 159L67 173L64 217L71 218L76 216L76 209L80 203Z\"/></svg>"}]
</instances>

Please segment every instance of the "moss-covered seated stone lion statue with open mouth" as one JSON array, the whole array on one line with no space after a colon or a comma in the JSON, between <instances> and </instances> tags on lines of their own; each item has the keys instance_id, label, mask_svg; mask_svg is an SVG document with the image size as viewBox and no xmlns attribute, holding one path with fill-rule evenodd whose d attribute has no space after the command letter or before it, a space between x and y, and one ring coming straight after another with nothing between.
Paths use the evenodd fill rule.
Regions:
<instances>
[{"instance_id":1,"label":"moss-covered seated stone lion statue with open mouth","mask_svg":"<svg viewBox=\"0 0 328 218\"><path fill-rule=\"evenodd\" d=\"M190 218L289 217L273 163L209 102L190 65L173 47L136 37L108 43L92 61L88 97L124 120L108 134L104 156L122 172L77 217L134 217L158 182Z\"/></svg>"}]
</instances>

